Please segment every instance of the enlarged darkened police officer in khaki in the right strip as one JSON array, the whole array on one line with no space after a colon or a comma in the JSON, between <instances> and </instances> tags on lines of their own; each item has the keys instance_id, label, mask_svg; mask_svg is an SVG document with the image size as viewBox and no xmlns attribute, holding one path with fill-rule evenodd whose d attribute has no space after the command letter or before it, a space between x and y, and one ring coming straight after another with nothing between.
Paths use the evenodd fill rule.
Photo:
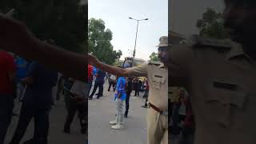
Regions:
<instances>
[{"instance_id":1,"label":"enlarged darkened police officer in khaki in the right strip","mask_svg":"<svg viewBox=\"0 0 256 144\"><path fill-rule=\"evenodd\" d=\"M256 143L256 2L225 0L231 40L194 37L173 46L169 85L191 95L196 144Z\"/></svg>"}]
</instances>

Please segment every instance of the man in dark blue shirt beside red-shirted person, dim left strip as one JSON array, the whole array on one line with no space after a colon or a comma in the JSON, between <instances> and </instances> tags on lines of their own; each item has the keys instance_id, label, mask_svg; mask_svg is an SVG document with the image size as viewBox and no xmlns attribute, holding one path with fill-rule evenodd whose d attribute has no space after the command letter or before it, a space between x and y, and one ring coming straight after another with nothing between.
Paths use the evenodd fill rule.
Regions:
<instances>
[{"instance_id":1,"label":"man in dark blue shirt beside red-shirted person, dim left strip","mask_svg":"<svg viewBox=\"0 0 256 144\"><path fill-rule=\"evenodd\" d=\"M52 88L57 80L57 72L47 70L38 62L30 63L26 78L22 80L26 84L26 92L18 126L10 144L17 144L21 141L32 118L34 118L34 138L27 142L47 143Z\"/></svg>"}]
</instances>

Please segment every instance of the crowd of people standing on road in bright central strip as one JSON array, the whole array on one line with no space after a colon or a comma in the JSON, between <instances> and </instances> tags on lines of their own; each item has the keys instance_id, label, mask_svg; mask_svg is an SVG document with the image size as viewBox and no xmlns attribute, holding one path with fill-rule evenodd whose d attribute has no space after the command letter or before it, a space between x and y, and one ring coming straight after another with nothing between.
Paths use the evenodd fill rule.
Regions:
<instances>
[{"instance_id":1,"label":"crowd of people standing on road in bright central strip","mask_svg":"<svg viewBox=\"0 0 256 144\"><path fill-rule=\"evenodd\" d=\"M90 69L89 69L90 67ZM120 68L126 68L124 66L119 66ZM90 93L91 86L89 89L88 97L89 100L92 100L94 95L97 95L97 98L103 96L104 83L108 82L108 91L114 92L114 102L116 103L116 118L114 121L111 121L110 124L113 129L122 129L122 119L128 117L129 112L129 103L130 103L130 94L134 90L134 96L139 96L139 91L145 91L143 98L146 98L145 105L142 107L148 108L147 98L149 93L149 86L146 78L143 78L143 81L139 80L138 77L118 77L114 74L106 73L103 70L97 69L94 66L88 65L88 78L91 79L90 83L94 84L94 87ZM145 81L145 82L144 82ZM144 85L145 84L145 85ZM106 85L105 85L106 86ZM98 88L98 94L95 94ZM123 103L126 106L123 106Z\"/></svg>"}]
</instances>

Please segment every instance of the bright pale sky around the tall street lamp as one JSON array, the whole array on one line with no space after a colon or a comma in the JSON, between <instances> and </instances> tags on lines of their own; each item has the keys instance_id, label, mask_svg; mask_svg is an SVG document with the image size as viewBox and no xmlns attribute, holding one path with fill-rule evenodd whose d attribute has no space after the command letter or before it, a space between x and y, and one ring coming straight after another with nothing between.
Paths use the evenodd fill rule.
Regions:
<instances>
[{"instance_id":1,"label":"bright pale sky around the tall street lamp","mask_svg":"<svg viewBox=\"0 0 256 144\"><path fill-rule=\"evenodd\" d=\"M129 17L148 21L139 22L136 58L149 59L157 52L158 40L168 34L168 0L89 0L89 18L102 18L113 32L114 50L122 50L122 58L134 50L137 22Z\"/></svg>"}]
</instances>

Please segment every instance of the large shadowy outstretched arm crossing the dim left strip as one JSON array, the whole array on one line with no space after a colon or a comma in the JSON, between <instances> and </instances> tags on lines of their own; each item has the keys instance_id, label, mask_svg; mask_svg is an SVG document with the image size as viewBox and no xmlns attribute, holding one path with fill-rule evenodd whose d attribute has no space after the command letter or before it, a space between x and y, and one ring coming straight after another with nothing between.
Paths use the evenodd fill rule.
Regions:
<instances>
[{"instance_id":1,"label":"large shadowy outstretched arm crossing the dim left strip","mask_svg":"<svg viewBox=\"0 0 256 144\"><path fill-rule=\"evenodd\" d=\"M4 14L0 14L0 48L36 60L67 76L86 81L86 56L41 42L22 22Z\"/></svg>"}]
</instances>

